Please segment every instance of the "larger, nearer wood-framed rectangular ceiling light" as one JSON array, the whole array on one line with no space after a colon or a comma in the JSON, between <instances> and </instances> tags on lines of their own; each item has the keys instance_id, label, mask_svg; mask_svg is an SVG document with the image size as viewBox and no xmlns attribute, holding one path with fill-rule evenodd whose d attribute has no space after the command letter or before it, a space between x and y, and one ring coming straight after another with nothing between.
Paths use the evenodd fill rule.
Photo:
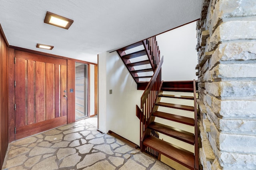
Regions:
<instances>
[{"instance_id":1,"label":"larger, nearer wood-framed rectangular ceiling light","mask_svg":"<svg viewBox=\"0 0 256 170\"><path fill-rule=\"evenodd\" d=\"M57 26L60 28L65 28L68 30L68 28L73 23L73 20L70 20L68 18L65 18L63 16L59 16L57 14L54 14L52 12L46 12L46 16L44 18L44 23L51 24L53 26Z\"/></svg>"}]
</instances>

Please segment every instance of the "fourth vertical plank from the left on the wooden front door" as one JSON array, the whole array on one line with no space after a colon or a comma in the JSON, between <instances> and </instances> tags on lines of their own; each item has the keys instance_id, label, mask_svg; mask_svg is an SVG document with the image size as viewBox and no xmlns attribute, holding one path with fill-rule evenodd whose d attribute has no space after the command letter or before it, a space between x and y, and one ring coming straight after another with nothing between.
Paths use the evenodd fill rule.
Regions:
<instances>
[{"instance_id":1,"label":"fourth vertical plank from the left on the wooden front door","mask_svg":"<svg viewBox=\"0 0 256 170\"><path fill-rule=\"evenodd\" d=\"M46 63L46 120L55 117L54 112L54 64Z\"/></svg>"}]
</instances>

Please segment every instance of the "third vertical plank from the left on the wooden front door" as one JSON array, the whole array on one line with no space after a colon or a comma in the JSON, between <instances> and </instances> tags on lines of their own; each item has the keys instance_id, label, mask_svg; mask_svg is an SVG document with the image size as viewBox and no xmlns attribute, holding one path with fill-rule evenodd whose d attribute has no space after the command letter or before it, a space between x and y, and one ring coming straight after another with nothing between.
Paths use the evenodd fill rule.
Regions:
<instances>
[{"instance_id":1,"label":"third vertical plank from the left on the wooden front door","mask_svg":"<svg viewBox=\"0 0 256 170\"><path fill-rule=\"evenodd\" d=\"M36 61L36 122L42 122L46 118L44 80L45 63Z\"/></svg>"}]
</instances>

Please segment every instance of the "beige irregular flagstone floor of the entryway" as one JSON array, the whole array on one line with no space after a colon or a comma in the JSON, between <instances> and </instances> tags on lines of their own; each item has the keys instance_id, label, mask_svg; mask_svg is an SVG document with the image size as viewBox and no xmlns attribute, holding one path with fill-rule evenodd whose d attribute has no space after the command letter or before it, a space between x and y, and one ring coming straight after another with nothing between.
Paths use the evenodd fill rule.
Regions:
<instances>
[{"instance_id":1,"label":"beige irregular flagstone floor of the entryway","mask_svg":"<svg viewBox=\"0 0 256 170\"><path fill-rule=\"evenodd\" d=\"M9 144L4 170L173 170L96 129L97 118Z\"/></svg>"}]
</instances>

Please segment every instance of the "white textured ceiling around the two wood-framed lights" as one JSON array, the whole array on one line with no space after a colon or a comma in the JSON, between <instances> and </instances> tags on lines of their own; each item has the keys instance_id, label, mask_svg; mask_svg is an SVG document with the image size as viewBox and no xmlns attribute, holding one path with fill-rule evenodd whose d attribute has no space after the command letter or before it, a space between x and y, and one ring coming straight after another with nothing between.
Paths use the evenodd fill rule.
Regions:
<instances>
[{"instance_id":1,"label":"white textured ceiling around the two wood-framed lights","mask_svg":"<svg viewBox=\"0 0 256 170\"><path fill-rule=\"evenodd\" d=\"M0 24L10 45L96 63L99 53L200 18L201 5L202 0L0 0ZM45 24L46 11L74 23L68 30Z\"/></svg>"}]
</instances>

